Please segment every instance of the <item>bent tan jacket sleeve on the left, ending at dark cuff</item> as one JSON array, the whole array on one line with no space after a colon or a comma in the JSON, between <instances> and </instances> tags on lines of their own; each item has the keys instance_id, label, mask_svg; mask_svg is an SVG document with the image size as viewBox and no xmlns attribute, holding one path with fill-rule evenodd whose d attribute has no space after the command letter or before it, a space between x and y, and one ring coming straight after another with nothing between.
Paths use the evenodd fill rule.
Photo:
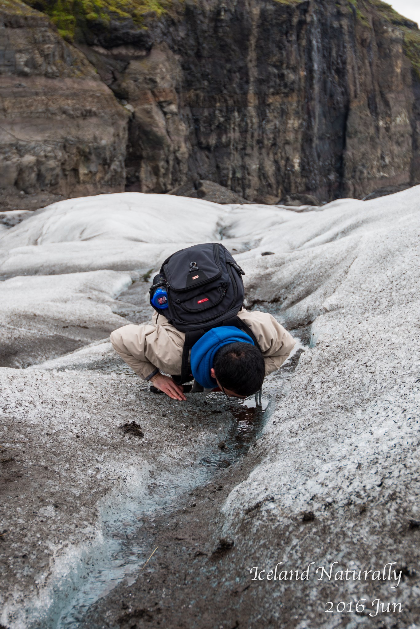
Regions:
<instances>
[{"instance_id":1,"label":"bent tan jacket sleeve on the left, ending at dark cuff","mask_svg":"<svg viewBox=\"0 0 420 629\"><path fill-rule=\"evenodd\" d=\"M125 325L114 330L110 337L116 353L143 380L157 373L157 367L146 357L147 337L154 331L154 325Z\"/></svg>"}]
</instances>

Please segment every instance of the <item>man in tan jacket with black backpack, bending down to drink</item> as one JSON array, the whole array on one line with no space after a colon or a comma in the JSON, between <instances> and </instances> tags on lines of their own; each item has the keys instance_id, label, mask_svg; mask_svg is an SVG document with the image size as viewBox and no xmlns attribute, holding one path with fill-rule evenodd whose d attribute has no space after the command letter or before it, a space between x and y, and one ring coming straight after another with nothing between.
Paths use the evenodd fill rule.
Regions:
<instances>
[{"instance_id":1,"label":"man in tan jacket with black backpack, bending down to drink","mask_svg":"<svg viewBox=\"0 0 420 629\"><path fill-rule=\"evenodd\" d=\"M150 288L152 325L118 328L113 348L172 399L185 400L183 384L192 379L228 397L260 391L295 342L273 316L243 308L243 274L220 243L174 253Z\"/></svg>"}]
</instances>

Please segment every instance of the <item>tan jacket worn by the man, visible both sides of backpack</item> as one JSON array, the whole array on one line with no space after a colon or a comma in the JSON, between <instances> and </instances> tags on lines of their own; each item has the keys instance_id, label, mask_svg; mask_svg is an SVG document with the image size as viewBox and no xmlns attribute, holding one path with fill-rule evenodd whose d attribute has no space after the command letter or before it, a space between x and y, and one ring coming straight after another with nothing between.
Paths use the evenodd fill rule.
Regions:
<instances>
[{"instance_id":1,"label":"tan jacket worn by the man, visible both sides of backpack","mask_svg":"<svg viewBox=\"0 0 420 629\"><path fill-rule=\"evenodd\" d=\"M242 309L238 316L258 340L266 364L266 376L279 369L295 345L292 336L267 313ZM169 376L178 376L181 373L185 333L176 330L163 315L158 318L154 313L152 321L153 325L125 325L113 331L112 346L144 380L148 380L156 369Z\"/></svg>"}]
</instances>

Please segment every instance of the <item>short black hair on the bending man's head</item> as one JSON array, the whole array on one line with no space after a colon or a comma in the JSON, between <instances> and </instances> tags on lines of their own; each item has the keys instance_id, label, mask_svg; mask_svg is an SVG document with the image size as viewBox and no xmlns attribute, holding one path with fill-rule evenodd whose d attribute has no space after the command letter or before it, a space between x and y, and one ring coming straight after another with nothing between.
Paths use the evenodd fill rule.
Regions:
<instances>
[{"instance_id":1,"label":"short black hair on the bending man's head","mask_svg":"<svg viewBox=\"0 0 420 629\"><path fill-rule=\"evenodd\" d=\"M213 369L224 389L249 396L263 386L263 354L251 343L228 343L215 353Z\"/></svg>"}]
</instances>

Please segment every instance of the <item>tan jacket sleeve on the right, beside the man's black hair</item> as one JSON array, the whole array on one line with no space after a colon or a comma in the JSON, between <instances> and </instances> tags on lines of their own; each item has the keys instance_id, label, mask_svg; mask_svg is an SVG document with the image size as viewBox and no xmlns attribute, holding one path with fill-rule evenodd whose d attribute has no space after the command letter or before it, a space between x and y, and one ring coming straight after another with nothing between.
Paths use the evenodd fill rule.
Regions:
<instances>
[{"instance_id":1,"label":"tan jacket sleeve on the right, beside the man's black hair","mask_svg":"<svg viewBox=\"0 0 420 629\"><path fill-rule=\"evenodd\" d=\"M280 369L295 347L292 335L268 313L241 311L239 316L249 325L258 340L264 356L266 376Z\"/></svg>"}]
</instances>

